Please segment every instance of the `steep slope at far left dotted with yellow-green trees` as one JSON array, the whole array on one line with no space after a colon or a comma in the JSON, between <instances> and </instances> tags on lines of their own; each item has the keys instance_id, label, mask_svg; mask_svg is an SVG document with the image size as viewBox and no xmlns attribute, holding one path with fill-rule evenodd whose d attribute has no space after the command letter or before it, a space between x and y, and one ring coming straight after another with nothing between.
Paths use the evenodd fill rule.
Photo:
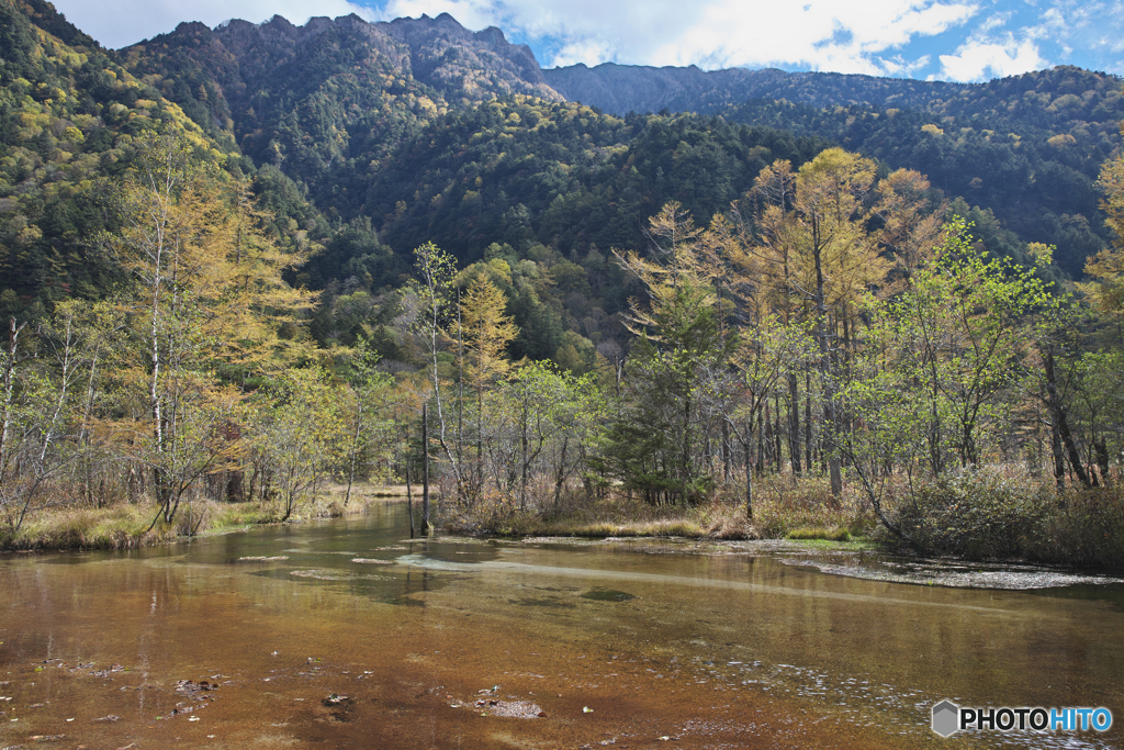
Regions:
<instances>
[{"instance_id":1,"label":"steep slope at far left dotted with yellow-green trees","mask_svg":"<svg viewBox=\"0 0 1124 750\"><path fill-rule=\"evenodd\" d=\"M130 138L200 128L51 3L0 0L0 315L97 297L120 273L89 241ZM217 148L215 154L217 154Z\"/></svg>"}]
</instances>

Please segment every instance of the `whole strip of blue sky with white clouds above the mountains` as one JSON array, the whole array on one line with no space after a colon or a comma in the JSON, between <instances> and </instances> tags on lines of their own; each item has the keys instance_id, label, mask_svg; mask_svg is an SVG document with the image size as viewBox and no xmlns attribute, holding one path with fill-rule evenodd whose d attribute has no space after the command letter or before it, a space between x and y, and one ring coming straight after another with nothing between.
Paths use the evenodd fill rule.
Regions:
<instances>
[{"instance_id":1,"label":"whole strip of blue sky with white clouds above the mountains","mask_svg":"<svg viewBox=\"0 0 1124 750\"><path fill-rule=\"evenodd\" d=\"M780 67L986 81L1053 65L1124 75L1124 0L54 0L109 47L169 31L274 13L355 12L368 20L448 12L498 26L543 67Z\"/></svg>"}]
</instances>

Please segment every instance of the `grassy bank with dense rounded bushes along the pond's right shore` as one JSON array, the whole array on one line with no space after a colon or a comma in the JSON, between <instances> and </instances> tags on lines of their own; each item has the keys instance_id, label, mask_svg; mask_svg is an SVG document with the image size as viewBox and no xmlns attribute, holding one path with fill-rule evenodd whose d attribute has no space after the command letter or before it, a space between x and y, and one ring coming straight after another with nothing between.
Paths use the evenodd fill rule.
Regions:
<instances>
[{"instance_id":1,"label":"grassy bank with dense rounded bushes along the pond's right shore","mask_svg":"<svg viewBox=\"0 0 1124 750\"><path fill-rule=\"evenodd\" d=\"M879 524L852 485L833 498L818 478L767 478L755 485L753 516L743 488L719 488L694 506L653 506L624 494L569 498L559 506L490 498L445 507L450 531L501 536L682 536L716 540L868 540L886 550L966 560L1031 561L1124 570L1124 485L1059 490L1009 469L963 471L940 480L887 482Z\"/></svg>"}]
</instances>

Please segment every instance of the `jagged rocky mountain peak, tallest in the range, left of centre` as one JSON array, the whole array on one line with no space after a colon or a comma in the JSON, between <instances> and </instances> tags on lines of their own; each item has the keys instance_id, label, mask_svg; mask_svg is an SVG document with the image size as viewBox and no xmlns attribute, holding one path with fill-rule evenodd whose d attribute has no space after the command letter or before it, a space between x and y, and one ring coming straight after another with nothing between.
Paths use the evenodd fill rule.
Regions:
<instances>
[{"instance_id":1,"label":"jagged rocky mountain peak, tallest in the range, left of centre","mask_svg":"<svg viewBox=\"0 0 1124 750\"><path fill-rule=\"evenodd\" d=\"M181 24L120 54L212 136L280 166L344 215L357 208L347 184L451 108L514 93L561 100L527 47L496 28L469 31L447 13Z\"/></svg>"}]
</instances>

